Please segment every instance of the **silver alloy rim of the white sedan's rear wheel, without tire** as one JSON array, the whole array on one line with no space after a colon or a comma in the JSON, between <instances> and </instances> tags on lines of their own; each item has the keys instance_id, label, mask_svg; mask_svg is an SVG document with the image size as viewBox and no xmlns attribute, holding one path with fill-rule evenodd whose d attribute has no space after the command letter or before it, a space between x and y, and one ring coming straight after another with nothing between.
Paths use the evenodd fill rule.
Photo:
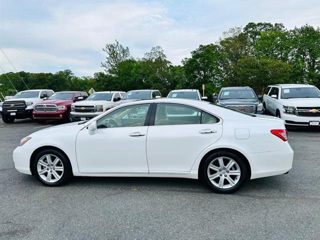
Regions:
<instances>
[{"instance_id":1,"label":"silver alloy rim of the white sedan's rear wheel, without tire","mask_svg":"<svg viewBox=\"0 0 320 240\"><path fill-rule=\"evenodd\" d=\"M234 186L240 179L239 165L231 158L219 156L207 167L209 181L218 188L227 189Z\"/></svg>"}]
</instances>

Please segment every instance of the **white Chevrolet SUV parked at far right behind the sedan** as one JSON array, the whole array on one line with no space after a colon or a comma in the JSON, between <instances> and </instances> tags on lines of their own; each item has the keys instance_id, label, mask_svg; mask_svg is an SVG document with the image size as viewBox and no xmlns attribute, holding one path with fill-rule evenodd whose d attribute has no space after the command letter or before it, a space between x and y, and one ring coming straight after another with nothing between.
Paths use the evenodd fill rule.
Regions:
<instances>
[{"instance_id":1,"label":"white Chevrolet SUV parked at far right behind the sedan","mask_svg":"<svg viewBox=\"0 0 320 240\"><path fill-rule=\"evenodd\" d=\"M262 103L287 126L319 126L320 90L306 84L277 84L266 88Z\"/></svg>"}]
</instances>

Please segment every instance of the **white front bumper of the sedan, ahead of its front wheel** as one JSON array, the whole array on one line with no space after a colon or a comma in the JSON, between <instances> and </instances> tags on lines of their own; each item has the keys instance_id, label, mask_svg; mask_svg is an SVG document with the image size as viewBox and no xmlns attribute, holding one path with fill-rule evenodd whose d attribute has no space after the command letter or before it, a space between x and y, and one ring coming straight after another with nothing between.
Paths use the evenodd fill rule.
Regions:
<instances>
[{"instance_id":1,"label":"white front bumper of the sedan, ahead of its front wheel","mask_svg":"<svg viewBox=\"0 0 320 240\"><path fill-rule=\"evenodd\" d=\"M13 151L13 162L14 167L19 172L25 174L31 174L30 170L30 157L32 154L32 149L26 149L22 146L17 146Z\"/></svg>"}]
</instances>

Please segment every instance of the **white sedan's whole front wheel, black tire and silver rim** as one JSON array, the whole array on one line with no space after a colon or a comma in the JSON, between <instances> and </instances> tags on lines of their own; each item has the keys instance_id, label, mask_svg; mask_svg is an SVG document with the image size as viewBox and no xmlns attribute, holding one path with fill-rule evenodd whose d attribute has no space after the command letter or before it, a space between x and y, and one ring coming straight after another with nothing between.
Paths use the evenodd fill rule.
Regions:
<instances>
[{"instance_id":1,"label":"white sedan's whole front wheel, black tire and silver rim","mask_svg":"<svg viewBox=\"0 0 320 240\"><path fill-rule=\"evenodd\" d=\"M42 150L32 162L32 172L46 186L59 186L71 176L71 166L67 157L55 149Z\"/></svg>"}]
</instances>

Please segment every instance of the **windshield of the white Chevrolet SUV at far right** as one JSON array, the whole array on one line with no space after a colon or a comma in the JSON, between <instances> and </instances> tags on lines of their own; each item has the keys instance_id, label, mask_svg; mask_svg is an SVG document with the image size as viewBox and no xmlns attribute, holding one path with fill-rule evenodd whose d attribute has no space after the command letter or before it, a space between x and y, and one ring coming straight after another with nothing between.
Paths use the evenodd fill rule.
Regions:
<instances>
[{"instance_id":1,"label":"windshield of the white Chevrolet SUV at far right","mask_svg":"<svg viewBox=\"0 0 320 240\"><path fill-rule=\"evenodd\" d=\"M282 88L281 98L320 97L320 92L315 87Z\"/></svg>"}]
</instances>

